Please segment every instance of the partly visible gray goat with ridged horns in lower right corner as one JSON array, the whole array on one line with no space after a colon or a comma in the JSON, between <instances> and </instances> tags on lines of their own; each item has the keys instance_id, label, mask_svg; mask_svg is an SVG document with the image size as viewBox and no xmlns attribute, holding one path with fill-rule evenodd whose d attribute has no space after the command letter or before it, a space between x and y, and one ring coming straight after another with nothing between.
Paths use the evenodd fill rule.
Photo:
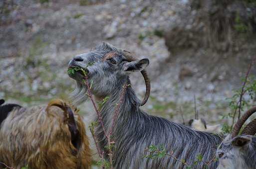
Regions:
<instances>
[{"instance_id":1,"label":"partly visible gray goat with ridged horns in lower right corner","mask_svg":"<svg viewBox=\"0 0 256 169\"><path fill-rule=\"evenodd\" d=\"M238 135L245 121L256 112L256 107L248 110L236 123L233 131L217 150L218 169L256 169L256 119L251 121L241 135Z\"/></svg>"}]
</instances>

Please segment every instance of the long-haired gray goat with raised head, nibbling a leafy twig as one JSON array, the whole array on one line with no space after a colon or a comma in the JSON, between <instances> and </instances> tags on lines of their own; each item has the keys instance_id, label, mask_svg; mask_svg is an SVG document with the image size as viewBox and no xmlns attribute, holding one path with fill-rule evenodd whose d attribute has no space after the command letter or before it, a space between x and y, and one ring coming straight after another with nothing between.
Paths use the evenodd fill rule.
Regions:
<instances>
[{"instance_id":1,"label":"long-haired gray goat with raised head, nibbling a leafy twig","mask_svg":"<svg viewBox=\"0 0 256 169\"><path fill-rule=\"evenodd\" d=\"M150 145L164 145L167 153L173 155L195 169L203 169L204 164L198 163L197 156L202 155L203 161L215 158L217 145L221 136L207 132L195 131L187 126L168 121L161 117L148 115L140 109L146 103L150 93L150 81L146 68L148 59L136 60L130 52L117 49L110 44L102 43L94 51L75 56L69 61L69 68L84 68L88 72L89 83L93 82L91 91L98 100L109 96L101 108L103 123L108 132L111 128L116 104L119 103L122 88L130 84L129 74L142 73L146 83L146 94L140 102L132 87L127 87L120 106L120 113L113 129L115 148L113 165L115 169L184 169L186 166L172 157L145 159L145 149ZM79 72L69 74L76 80L77 88L73 93L73 101L78 104L86 100L87 91L83 83L83 75ZM96 120L98 118L96 117ZM99 146L107 152L107 139L103 129L98 125L95 129ZM106 157L107 158L107 157ZM211 163L208 168L216 169L218 162Z\"/></svg>"}]
</instances>

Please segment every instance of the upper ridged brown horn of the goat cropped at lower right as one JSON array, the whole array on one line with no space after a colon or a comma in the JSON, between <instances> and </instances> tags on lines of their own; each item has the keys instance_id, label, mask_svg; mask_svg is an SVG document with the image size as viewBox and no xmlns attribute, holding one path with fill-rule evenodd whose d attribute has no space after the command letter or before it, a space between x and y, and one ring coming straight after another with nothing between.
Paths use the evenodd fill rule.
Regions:
<instances>
[{"instance_id":1,"label":"upper ridged brown horn of the goat cropped at lower right","mask_svg":"<svg viewBox=\"0 0 256 169\"><path fill-rule=\"evenodd\" d=\"M236 137L239 134L239 131L241 129L241 127L243 126L243 124L246 122L246 120L256 112L256 106L253 108L250 108L235 124L235 126L233 127L232 130L232 138Z\"/></svg>"}]
</instances>

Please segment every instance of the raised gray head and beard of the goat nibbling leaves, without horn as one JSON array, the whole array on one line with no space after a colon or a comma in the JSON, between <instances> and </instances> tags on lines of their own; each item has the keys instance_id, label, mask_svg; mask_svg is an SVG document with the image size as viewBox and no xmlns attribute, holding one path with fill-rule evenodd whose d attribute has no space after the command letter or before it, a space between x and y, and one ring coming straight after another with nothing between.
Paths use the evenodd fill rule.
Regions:
<instances>
[{"instance_id":1,"label":"raised gray head and beard of the goat nibbling leaves, without horn","mask_svg":"<svg viewBox=\"0 0 256 169\"><path fill-rule=\"evenodd\" d=\"M127 81L129 73L142 71L149 65L148 59L131 60L125 53L129 53L102 43L92 52L74 56L69 61L69 68L82 68L87 73L88 81L94 95L105 97L122 86ZM85 86L82 72L69 73L69 77L76 80L77 89L73 95L75 103L85 100Z\"/></svg>"}]
</instances>

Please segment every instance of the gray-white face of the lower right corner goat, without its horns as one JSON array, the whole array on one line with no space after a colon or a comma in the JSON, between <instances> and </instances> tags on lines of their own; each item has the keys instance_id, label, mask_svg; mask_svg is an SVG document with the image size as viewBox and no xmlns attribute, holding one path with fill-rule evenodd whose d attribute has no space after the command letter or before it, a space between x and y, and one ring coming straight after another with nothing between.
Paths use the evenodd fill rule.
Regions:
<instances>
[{"instance_id":1,"label":"gray-white face of the lower right corner goat, without its horns","mask_svg":"<svg viewBox=\"0 0 256 169\"><path fill-rule=\"evenodd\" d=\"M219 158L218 169L253 169L248 166L249 152L254 144L251 135L239 135L232 138L228 135L217 149L216 157ZM253 151L254 152L254 151ZM254 159L252 159L254 161Z\"/></svg>"}]
</instances>

